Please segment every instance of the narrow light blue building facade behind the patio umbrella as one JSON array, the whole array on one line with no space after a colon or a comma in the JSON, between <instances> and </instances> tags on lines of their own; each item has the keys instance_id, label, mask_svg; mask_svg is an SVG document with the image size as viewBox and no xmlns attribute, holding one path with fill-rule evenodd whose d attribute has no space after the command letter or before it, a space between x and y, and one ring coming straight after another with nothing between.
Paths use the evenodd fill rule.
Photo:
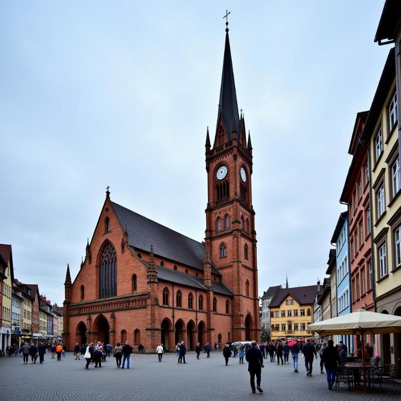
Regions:
<instances>
[{"instance_id":1,"label":"narrow light blue building facade behind the patio umbrella","mask_svg":"<svg viewBox=\"0 0 401 401\"><path fill-rule=\"evenodd\" d=\"M350 292L350 264L348 255L348 212L343 212L338 218L331 243L336 247L336 288L337 288L337 316L351 313ZM343 341L348 352L353 352L351 335L339 335L338 341Z\"/></svg>"}]
</instances>

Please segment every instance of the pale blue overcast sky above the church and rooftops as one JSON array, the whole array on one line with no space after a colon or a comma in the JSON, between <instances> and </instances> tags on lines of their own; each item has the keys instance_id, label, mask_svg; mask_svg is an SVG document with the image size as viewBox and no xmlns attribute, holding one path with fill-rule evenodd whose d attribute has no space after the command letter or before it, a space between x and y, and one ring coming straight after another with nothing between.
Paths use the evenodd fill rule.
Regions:
<instances>
[{"instance_id":1,"label":"pale blue overcast sky above the church and rooftops","mask_svg":"<svg viewBox=\"0 0 401 401\"><path fill-rule=\"evenodd\" d=\"M0 243L62 304L111 199L202 241L226 8L251 130L259 292L324 277L384 1L0 2ZM211 130L212 141L214 130Z\"/></svg>"}]
</instances>

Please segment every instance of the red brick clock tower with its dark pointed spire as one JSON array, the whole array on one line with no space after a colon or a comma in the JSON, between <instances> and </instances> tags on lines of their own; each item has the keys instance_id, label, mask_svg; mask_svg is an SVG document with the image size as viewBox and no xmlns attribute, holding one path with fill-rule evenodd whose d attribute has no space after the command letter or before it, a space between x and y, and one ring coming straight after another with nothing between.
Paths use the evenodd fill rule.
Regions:
<instances>
[{"instance_id":1,"label":"red brick clock tower with its dark pointed spire","mask_svg":"<svg viewBox=\"0 0 401 401\"><path fill-rule=\"evenodd\" d=\"M259 340L255 212L252 206L252 144L238 110L226 23L222 83L213 147L206 136L208 205L206 248L234 293L233 341ZM213 281L212 281L213 287Z\"/></svg>"}]
</instances>

